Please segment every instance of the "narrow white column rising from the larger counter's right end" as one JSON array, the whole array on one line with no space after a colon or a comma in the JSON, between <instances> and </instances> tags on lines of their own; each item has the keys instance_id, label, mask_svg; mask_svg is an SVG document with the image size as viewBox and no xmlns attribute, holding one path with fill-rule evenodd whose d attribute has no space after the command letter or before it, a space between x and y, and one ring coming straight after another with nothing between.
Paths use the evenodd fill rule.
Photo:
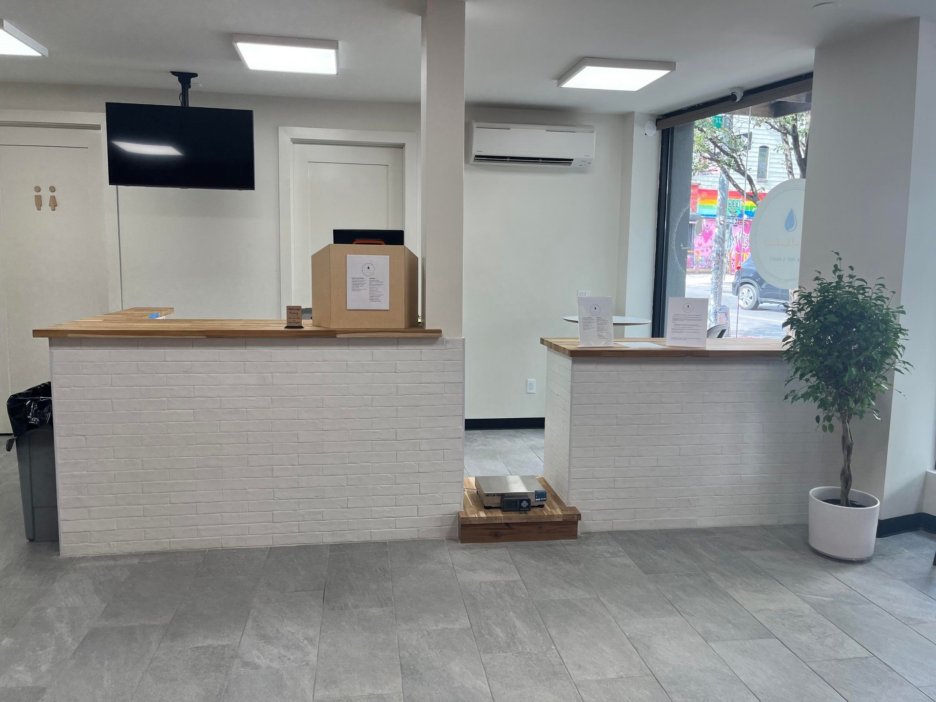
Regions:
<instances>
[{"instance_id":1,"label":"narrow white column rising from the larger counter's right end","mask_svg":"<svg viewBox=\"0 0 936 702\"><path fill-rule=\"evenodd\" d=\"M422 19L422 310L461 337L465 4L426 0Z\"/></svg>"}]
</instances>

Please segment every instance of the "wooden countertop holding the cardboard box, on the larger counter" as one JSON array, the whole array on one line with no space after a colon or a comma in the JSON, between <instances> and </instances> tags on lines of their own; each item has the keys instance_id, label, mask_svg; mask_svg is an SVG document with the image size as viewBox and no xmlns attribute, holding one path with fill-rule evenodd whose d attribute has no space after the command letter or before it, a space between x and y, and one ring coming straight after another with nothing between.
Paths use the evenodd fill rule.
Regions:
<instances>
[{"instance_id":1,"label":"wooden countertop holding the cardboard box, on the larger counter","mask_svg":"<svg viewBox=\"0 0 936 702\"><path fill-rule=\"evenodd\" d=\"M171 307L131 307L74 322L33 329L37 338L159 338L205 339L335 339L335 338L435 338L442 329L326 329L304 320L303 329L285 329L285 319L160 319Z\"/></svg>"}]
</instances>

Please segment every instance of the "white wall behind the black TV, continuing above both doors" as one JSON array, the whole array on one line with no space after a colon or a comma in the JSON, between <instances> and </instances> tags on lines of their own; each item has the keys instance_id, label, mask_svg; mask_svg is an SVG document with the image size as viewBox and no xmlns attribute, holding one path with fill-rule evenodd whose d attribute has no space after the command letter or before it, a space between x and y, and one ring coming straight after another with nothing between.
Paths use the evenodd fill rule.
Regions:
<instances>
[{"instance_id":1,"label":"white wall behind the black TV, continuing above both doors","mask_svg":"<svg viewBox=\"0 0 936 702\"><path fill-rule=\"evenodd\" d=\"M14 110L103 112L106 101L172 104L178 91L0 83ZM181 317L281 317L278 128L419 132L416 104L193 91L200 107L254 110L256 190L119 188L124 307Z\"/></svg>"}]
</instances>

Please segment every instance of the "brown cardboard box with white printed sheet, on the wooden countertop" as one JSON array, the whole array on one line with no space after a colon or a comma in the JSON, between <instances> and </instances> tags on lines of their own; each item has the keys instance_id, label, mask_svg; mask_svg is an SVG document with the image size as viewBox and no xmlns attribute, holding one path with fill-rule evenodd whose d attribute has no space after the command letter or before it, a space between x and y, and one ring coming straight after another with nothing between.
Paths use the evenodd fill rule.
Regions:
<instances>
[{"instance_id":1,"label":"brown cardboard box with white printed sheet, on the wooden countertop","mask_svg":"<svg viewBox=\"0 0 936 702\"><path fill-rule=\"evenodd\" d=\"M347 256L388 256L388 309L347 308ZM417 326L419 266L405 246L331 243L312 256L312 323L329 329Z\"/></svg>"}]
</instances>

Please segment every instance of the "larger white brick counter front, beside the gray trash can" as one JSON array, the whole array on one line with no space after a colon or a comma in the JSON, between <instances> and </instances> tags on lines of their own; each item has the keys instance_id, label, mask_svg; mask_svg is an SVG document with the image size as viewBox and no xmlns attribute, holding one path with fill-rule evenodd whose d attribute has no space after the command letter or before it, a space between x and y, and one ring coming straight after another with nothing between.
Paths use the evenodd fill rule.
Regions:
<instances>
[{"instance_id":1,"label":"larger white brick counter front, beside the gray trash can","mask_svg":"<svg viewBox=\"0 0 936 702\"><path fill-rule=\"evenodd\" d=\"M461 339L50 339L61 552L457 534Z\"/></svg>"}]
</instances>

